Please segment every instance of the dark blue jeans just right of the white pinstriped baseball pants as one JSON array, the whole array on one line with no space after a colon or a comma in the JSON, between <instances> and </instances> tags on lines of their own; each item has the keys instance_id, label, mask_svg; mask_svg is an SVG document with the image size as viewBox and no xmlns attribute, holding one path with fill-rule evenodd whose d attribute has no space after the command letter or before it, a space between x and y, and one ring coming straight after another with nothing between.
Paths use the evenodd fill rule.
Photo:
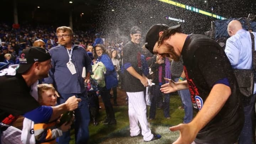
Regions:
<instances>
[{"instance_id":1,"label":"dark blue jeans just right of the white pinstriped baseball pants","mask_svg":"<svg viewBox=\"0 0 256 144\"><path fill-rule=\"evenodd\" d=\"M160 85L151 86L151 104L149 109L149 118L154 119L156 114L156 105L158 97L160 97L163 93L160 91ZM170 117L170 94L164 94L164 116L165 118Z\"/></svg>"}]
</instances>

